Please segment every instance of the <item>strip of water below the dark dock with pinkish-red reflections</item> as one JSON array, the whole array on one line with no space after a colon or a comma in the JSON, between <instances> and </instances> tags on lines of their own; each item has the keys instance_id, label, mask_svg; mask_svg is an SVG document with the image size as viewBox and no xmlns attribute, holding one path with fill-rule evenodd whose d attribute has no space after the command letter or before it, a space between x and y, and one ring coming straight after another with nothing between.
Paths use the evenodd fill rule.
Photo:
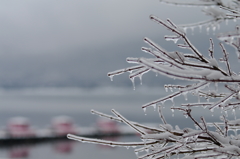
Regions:
<instances>
[{"instance_id":1,"label":"strip of water below the dark dock with pinkish-red reflections","mask_svg":"<svg viewBox=\"0 0 240 159\"><path fill-rule=\"evenodd\" d=\"M112 136L102 138L111 141L131 141L137 140L132 136ZM123 155L120 155L124 152ZM25 144L12 144L1 147L0 158L8 159L38 159L38 158L51 158L51 159L75 159L89 158L103 159L112 158L116 155L119 159L121 156L126 158L133 158L134 153L132 150L126 151L125 148L109 147L104 145L82 144L80 142L71 141L68 139L45 140L45 142L25 143ZM82 156L82 157L81 157ZM114 157L115 158L115 157Z\"/></svg>"}]
</instances>

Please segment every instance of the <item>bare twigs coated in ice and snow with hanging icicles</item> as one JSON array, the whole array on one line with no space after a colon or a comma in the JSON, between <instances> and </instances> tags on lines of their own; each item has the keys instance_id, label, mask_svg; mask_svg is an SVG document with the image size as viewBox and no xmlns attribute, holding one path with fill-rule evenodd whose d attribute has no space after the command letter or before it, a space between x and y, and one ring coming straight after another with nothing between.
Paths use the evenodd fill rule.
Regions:
<instances>
[{"instance_id":1,"label":"bare twigs coated in ice and snow with hanging icicles","mask_svg":"<svg viewBox=\"0 0 240 159\"><path fill-rule=\"evenodd\" d=\"M202 11L210 19L192 24L177 25L170 19L162 20L151 15L152 21L170 31L171 35L163 35L163 37L172 45L180 48L181 52L166 50L153 40L144 38L144 42L149 46L142 47L141 50L152 57L129 57L127 62L135 66L110 72L108 76L112 78L115 75L129 72L129 78L134 84L136 77L141 80L143 75L152 71L172 79L188 82L182 85L165 84L166 91L170 90L168 91L169 95L142 106L144 112L149 106L154 107L154 110L157 108L156 112L162 123L157 127L151 127L130 121L116 110L112 110L115 116L92 110L93 114L128 125L141 135L140 138L143 142L115 142L70 134L68 138L109 146L133 147L139 159L159 159L172 156L179 158L181 156L179 154L187 154L181 156L184 159L239 158L240 119L236 117L235 111L240 107L240 75L236 73L240 71L235 71L235 68L230 64L229 56L231 54L225 48L225 44L234 47L237 58L240 59L239 26L236 26L235 31L219 34L217 37L222 41L219 45L214 45L213 40L210 39L210 46L206 47L208 53L199 51L191 43L186 31L187 29L194 31L196 27L200 30L202 27L206 27L208 32L216 32L221 22L240 18L240 1L233 0L225 3L222 0L161 0L161 2L180 6L205 6ZM222 52L220 59L217 58L217 52L214 52L216 47L219 47ZM175 102L176 98L182 98L181 95L187 97L188 101L191 101L192 96L197 96L198 101ZM172 101L170 107L164 106L168 100ZM181 125L180 127L172 126L166 121L163 107L171 109L173 112L182 113L183 118L186 117L187 120L190 120L195 128L180 128ZM204 116L199 118L193 115L192 112L197 107L207 108L206 111L219 109L223 115L219 121L209 122L208 118ZM233 114L234 120L228 114ZM233 131L234 134L229 131Z\"/></svg>"}]
</instances>

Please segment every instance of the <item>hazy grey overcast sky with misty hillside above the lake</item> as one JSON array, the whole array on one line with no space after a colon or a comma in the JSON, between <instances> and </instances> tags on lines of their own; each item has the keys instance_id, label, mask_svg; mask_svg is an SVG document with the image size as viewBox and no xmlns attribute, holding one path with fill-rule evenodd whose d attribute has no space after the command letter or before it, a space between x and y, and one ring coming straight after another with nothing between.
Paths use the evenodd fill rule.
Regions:
<instances>
[{"instance_id":1,"label":"hazy grey overcast sky with misty hillside above the lake","mask_svg":"<svg viewBox=\"0 0 240 159\"><path fill-rule=\"evenodd\" d=\"M107 72L144 55L143 37L163 42L150 14L179 24L204 20L200 11L158 0L2 0L0 87L106 85Z\"/></svg>"}]
</instances>

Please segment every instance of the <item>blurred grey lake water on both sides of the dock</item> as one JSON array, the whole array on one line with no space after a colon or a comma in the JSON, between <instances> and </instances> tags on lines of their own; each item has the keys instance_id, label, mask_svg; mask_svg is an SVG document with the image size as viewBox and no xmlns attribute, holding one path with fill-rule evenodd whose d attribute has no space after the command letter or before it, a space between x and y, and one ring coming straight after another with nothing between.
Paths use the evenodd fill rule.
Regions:
<instances>
[{"instance_id":1,"label":"blurred grey lake water on both sides of the dock","mask_svg":"<svg viewBox=\"0 0 240 159\"><path fill-rule=\"evenodd\" d=\"M58 115L67 115L73 118L79 126L94 126L97 116L90 113L91 109L111 114L115 109L127 119L140 123L161 123L158 113L148 108L146 114L141 106L151 100L158 99L167 93L163 88L144 88L137 90L124 88L99 88L94 90L69 89L22 89L0 91L0 127L4 129L11 117L24 116L29 118L35 128L44 128L50 125L51 119ZM184 97L179 97L184 101ZM189 99L191 101L191 99ZM172 105L171 102L166 105ZM178 102L175 103L178 105ZM175 112L174 117L170 109L164 110L166 120L180 127L193 127L193 123ZM203 110L193 112L199 116L207 116ZM213 114L214 115L214 114ZM214 115L212 118L218 118ZM138 137L117 137L114 141L140 141ZM70 140L49 141L40 144L1 146L0 159L29 158L29 159L75 159L75 158L136 158L133 149L110 148L106 146L72 142Z\"/></svg>"}]
</instances>

